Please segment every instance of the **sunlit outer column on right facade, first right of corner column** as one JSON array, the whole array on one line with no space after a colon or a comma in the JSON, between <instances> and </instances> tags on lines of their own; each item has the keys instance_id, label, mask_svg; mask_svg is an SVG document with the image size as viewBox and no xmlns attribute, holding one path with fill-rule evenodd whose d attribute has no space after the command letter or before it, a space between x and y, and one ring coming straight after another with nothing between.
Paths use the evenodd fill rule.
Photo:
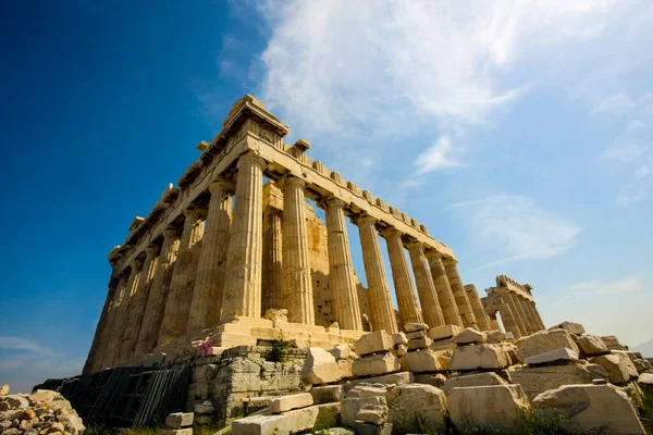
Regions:
<instances>
[{"instance_id":1,"label":"sunlit outer column on right facade, first right of corner column","mask_svg":"<svg viewBox=\"0 0 653 435\"><path fill-rule=\"evenodd\" d=\"M288 322L316 324L312 281L308 262L308 234L304 179L288 176L283 189L283 302ZM342 324L341 324L342 326ZM344 327L344 326L343 326Z\"/></svg>"}]
</instances>

